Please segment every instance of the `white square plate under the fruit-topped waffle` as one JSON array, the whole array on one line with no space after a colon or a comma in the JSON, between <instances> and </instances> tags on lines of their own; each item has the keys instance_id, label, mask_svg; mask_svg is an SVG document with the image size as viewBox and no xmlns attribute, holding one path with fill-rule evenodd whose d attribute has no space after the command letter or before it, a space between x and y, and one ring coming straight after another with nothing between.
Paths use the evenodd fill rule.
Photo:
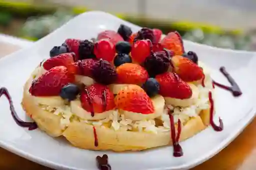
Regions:
<instances>
[{"instance_id":1,"label":"white square plate under the fruit-topped waffle","mask_svg":"<svg viewBox=\"0 0 256 170\"><path fill-rule=\"evenodd\" d=\"M104 12L81 14L48 36L26 49L0 60L0 86L7 87L18 115L25 113L20 106L22 86L33 69L48 57L54 45L66 38L91 38L105 29L116 30L120 23L138 26ZM93 152L74 148L63 139L53 139L40 130L27 131L11 118L7 100L0 98L0 146L31 161L58 170L96 170L95 157L107 153L112 170L184 170L194 167L217 154L227 146L253 119L256 112L252 102L256 96L254 73L256 55L253 52L217 49L184 41L185 50L197 52L199 59L214 69L212 77L221 83L227 80L218 72L225 66L239 84L243 95L234 98L229 92L216 88L216 114L223 119L224 130L215 132L211 127L181 143L184 156L172 157L172 147L145 152ZM215 116L217 118L217 116Z\"/></svg>"}]
</instances>

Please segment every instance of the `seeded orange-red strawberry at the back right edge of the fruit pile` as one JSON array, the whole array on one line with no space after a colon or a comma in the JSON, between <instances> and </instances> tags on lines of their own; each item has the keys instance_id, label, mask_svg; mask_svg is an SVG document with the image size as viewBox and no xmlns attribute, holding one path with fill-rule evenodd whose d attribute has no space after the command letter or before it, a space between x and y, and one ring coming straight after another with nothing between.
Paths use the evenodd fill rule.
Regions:
<instances>
[{"instance_id":1,"label":"seeded orange-red strawberry at the back right edge of the fruit pile","mask_svg":"<svg viewBox=\"0 0 256 170\"><path fill-rule=\"evenodd\" d=\"M163 48L174 52L174 55L182 55L184 53L183 41L177 31L169 32L161 41Z\"/></svg>"}]
</instances>

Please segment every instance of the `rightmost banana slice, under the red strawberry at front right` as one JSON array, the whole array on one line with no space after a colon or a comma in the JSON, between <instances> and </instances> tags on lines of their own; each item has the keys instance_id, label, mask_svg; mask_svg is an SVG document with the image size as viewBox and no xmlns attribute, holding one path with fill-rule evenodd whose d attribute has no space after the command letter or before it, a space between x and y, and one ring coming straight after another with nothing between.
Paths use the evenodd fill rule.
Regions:
<instances>
[{"instance_id":1,"label":"rightmost banana slice, under the red strawberry at front right","mask_svg":"<svg viewBox=\"0 0 256 170\"><path fill-rule=\"evenodd\" d=\"M187 107L195 104L196 101L198 100L199 90L195 85L191 83L188 83L188 85L192 90L192 96L189 99L176 99L171 97L164 97L166 105Z\"/></svg>"}]
</instances>

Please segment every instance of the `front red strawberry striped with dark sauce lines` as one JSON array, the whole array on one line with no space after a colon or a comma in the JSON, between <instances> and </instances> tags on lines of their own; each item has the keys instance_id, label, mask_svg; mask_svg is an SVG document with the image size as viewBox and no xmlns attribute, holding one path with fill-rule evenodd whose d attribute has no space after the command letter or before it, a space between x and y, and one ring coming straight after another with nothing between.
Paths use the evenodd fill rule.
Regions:
<instances>
[{"instance_id":1,"label":"front red strawberry striped with dark sauce lines","mask_svg":"<svg viewBox=\"0 0 256 170\"><path fill-rule=\"evenodd\" d=\"M102 113L115 107L113 93L107 86L97 83L85 88L80 100L82 108L87 112Z\"/></svg>"}]
</instances>

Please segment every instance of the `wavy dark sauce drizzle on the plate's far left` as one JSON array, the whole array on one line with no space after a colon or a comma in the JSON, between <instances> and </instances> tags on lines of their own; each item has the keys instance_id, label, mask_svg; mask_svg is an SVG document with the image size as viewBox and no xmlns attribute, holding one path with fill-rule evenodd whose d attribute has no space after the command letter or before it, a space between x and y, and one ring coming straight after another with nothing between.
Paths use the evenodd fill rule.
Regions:
<instances>
[{"instance_id":1,"label":"wavy dark sauce drizzle on the plate's far left","mask_svg":"<svg viewBox=\"0 0 256 170\"><path fill-rule=\"evenodd\" d=\"M31 130L34 130L37 128L37 125L35 122L24 122L22 121L17 113L15 112L14 110L14 106L13 106L13 103L12 103L12 100L11 100L11 97L10 97L10 94L8 92L8 90L4 87L0 88L0 97L4 95L8 101L9 101L9 105L10 105L10 113L11 113L11 116L12 118L14 119L14 121L16 122L16 124L20 127L24 127L24 128L28 128L29 131Z\"/></svg>"}]
</instances>

